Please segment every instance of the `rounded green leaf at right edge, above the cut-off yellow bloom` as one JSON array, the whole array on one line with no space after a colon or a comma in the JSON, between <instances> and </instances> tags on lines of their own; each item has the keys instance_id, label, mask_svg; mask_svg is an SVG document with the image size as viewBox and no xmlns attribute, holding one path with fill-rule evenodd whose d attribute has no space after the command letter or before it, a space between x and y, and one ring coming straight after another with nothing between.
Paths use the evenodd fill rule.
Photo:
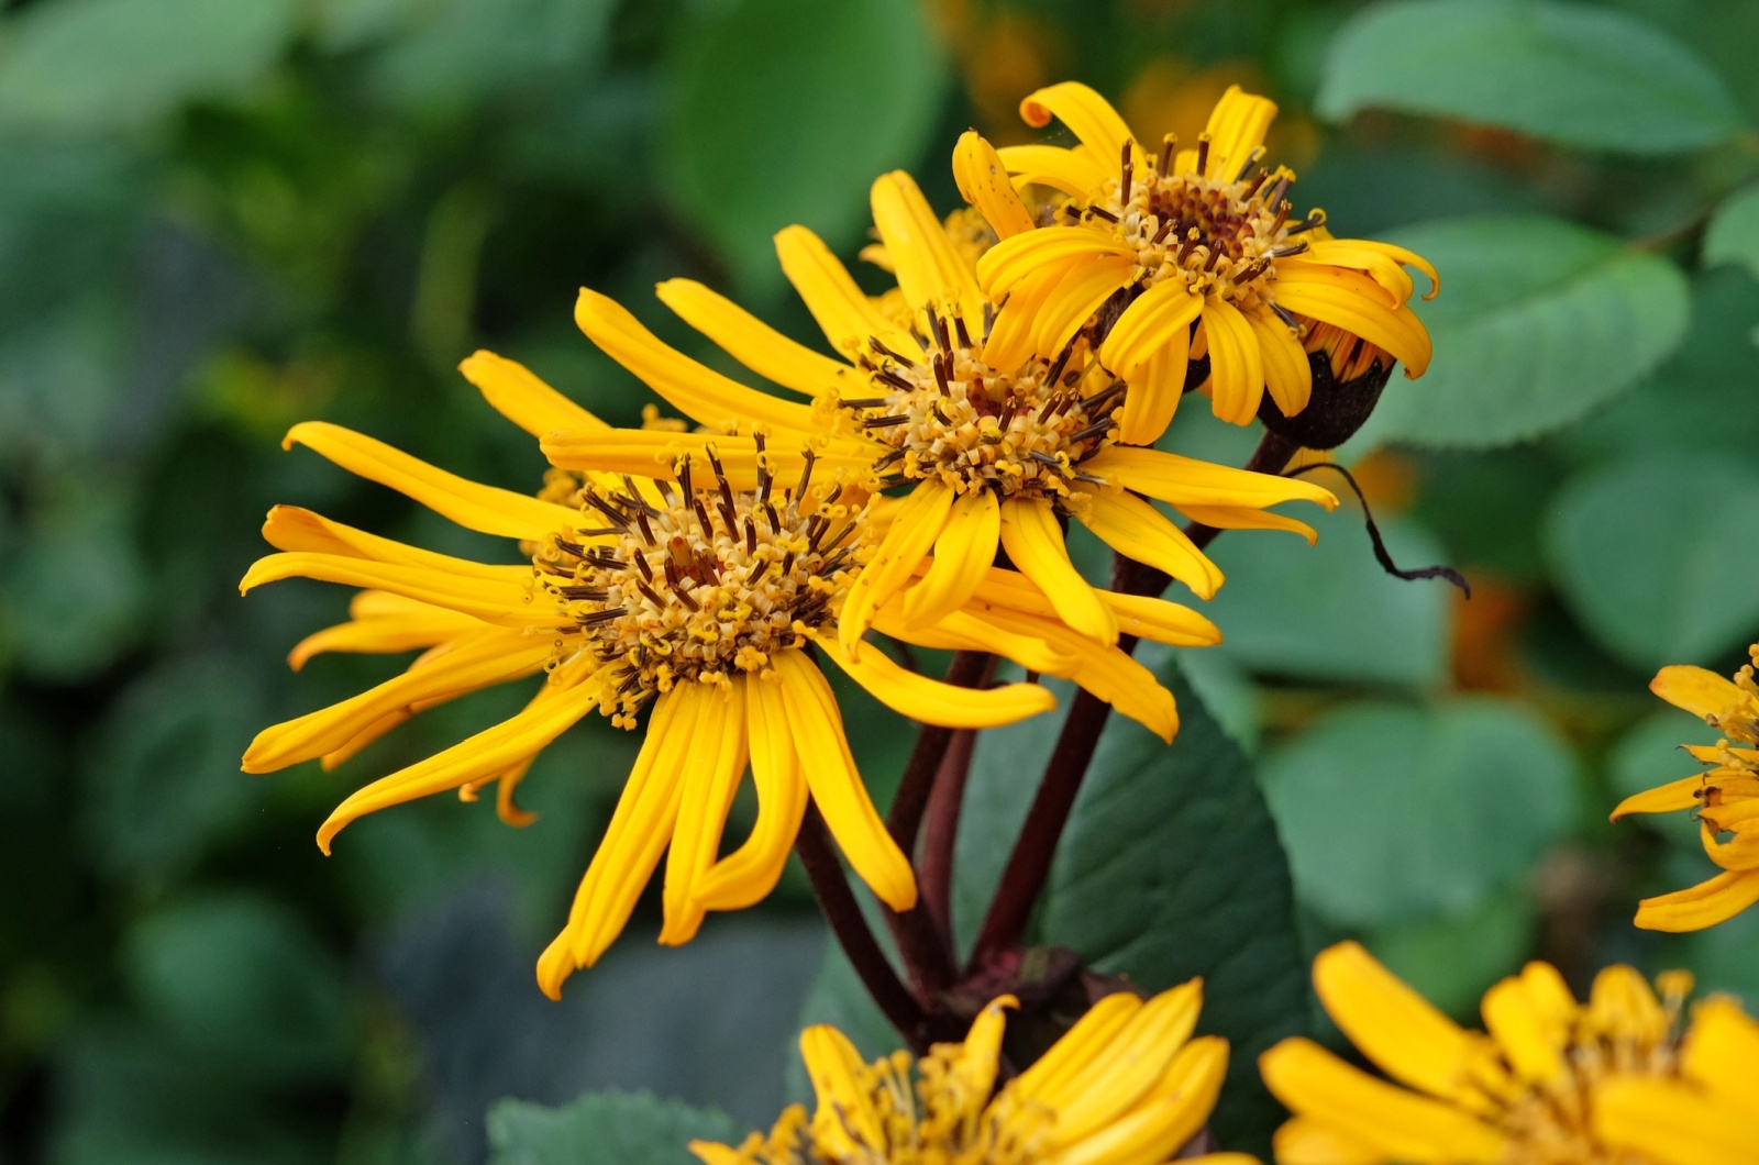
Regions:
<instances>
[{"instance_id":1,"label":"rounded green leaf at right edge, above the cut-off yellow bloom","mask_svg":"<svg viewBox=\"0 0 1759 1165\"><path fill-rule=\"evenodd\" d=\"M1546 546L1587 630L1638 669L1715 663L1759 632L1759 472L1722 456L1624 461L1564 487Z\"/></svg>"}]
</instances>

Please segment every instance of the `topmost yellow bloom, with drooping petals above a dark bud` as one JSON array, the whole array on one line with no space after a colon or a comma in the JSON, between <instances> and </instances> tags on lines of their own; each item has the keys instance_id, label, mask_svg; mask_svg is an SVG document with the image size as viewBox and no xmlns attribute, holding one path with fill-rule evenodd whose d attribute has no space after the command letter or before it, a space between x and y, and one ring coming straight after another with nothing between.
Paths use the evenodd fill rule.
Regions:
<instances>
[{"instance_id":1,"label":"topmost yellow bloom, with drooping petals above a dark bud","mask_svg":"<svg viewBox=\"0 0 1759 1165\"><path fill-rule=\"evenodd\" d=\"M1402 246L1335 239L1319 211L1291 220L1284 195L1295 174L1259 165L1274 102L1231 86L1194 148L1179 150L1168 134L1150 153L1103 97L1073 81L1029 95L1020 116L1034 127L1055 118L1080 144L997 151L966 136L960 188L1003 236L978 276L1003 303L997 331L1040 355L1096 311L1112 313L1099 357L1140 399L1126 443L1166 428L1187 361L1208 359L1205 391L1235 424L1258 415L1266 389L1282 415L1307 408L1316 370L1344 384L1376 364L1384 378L1393 361L1407 377L1428 368L1404 266L1430 278L1430 296L1435 269ZM1036 227L1015 195L1033 185L1057 192ZM1017 315L1036 322L1017 327Z\"/></svg>"}]
</instances>

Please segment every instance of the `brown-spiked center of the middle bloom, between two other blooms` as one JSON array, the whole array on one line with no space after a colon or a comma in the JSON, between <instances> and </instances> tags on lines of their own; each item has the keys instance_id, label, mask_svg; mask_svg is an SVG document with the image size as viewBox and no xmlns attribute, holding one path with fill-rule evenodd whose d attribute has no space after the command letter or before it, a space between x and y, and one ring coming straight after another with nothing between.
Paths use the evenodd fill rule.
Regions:
<instances>
[{"instance_id":1,"label":"brown-spiked center of the middle bloom, between two other blooms","mask_svg":"<svg viewBox=\"0 0 1759 1165\"><path fill-rule=\"evenodd\" d=\"M1029 359L1011 373L982 361L980 345L936 319L938 347L913 361L869 340L862 366L883 396L846 399L857 426L888 443L874 466L883 475L939 477L959 493L992 489L1001 496L1052 500L1075 495L1078 482L1103 484L1082 461L1112 443L1112 414L1124 401L1085 336L1055 361Z\"/></svg>"}]
</instances>

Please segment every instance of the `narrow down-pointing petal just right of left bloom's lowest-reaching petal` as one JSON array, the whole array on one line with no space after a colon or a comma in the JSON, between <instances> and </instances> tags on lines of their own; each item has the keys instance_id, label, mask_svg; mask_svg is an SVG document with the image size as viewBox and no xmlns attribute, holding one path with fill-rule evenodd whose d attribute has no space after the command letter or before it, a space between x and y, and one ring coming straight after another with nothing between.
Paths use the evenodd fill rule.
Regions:
<instances>
[{"instance_id":1,"label":"narrow down-pointing petal just right of left bloom's lowest-reaching petal","mask_svg":"<svg viewBox=\"0 0 1759 1165\"><path fill-rule=\"evenodd\" d=\"M726 811L734 806L749 757L746 685L707 685L700 702L702 720L697 722L693 748L684 758L677 824L672 827L665 864L665 924L660 927L660 942L667 947L688 943L702 926L705 908L697 899L697 882L719 854Z\"/></svg>"}]
</instances>

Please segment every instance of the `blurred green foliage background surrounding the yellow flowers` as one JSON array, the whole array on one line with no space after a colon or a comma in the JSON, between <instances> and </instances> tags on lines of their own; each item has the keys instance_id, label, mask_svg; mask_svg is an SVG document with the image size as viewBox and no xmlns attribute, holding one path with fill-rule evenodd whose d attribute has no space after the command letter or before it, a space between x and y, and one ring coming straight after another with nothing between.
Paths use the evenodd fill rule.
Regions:
<instances>
[{"instance_id":1,"label":"blurred green foliage background surrounding the yellow flowers","mask_svg":"<svg viewBox=\"0 0 1759 1165\"><path fill-rule=\"evenodd\" d=\"M544 1001L531 963L631 739L595 722L552 748L529 829L434 799L324 861L308 838L345 790L521 693L336 774L243 776L259 727L390 663L288 674L345 595L234 582L276 502L493 553L280 435L322 417L533 489L463 355L633 422L649 398L573 331L577 287L688 347L649 292L697 276L807 338L769 234L806 222L853 257L894 165L952 209L957 130L1018 141L1018 97L1066 76L1145 134L1194 134L1228 81L1270 92L1296 201L1437 262L1434 368L1346 454L1398 563L1449 561L1474 597L1384 575L1349 505L1316 549L1226 535L1228 642L1177 662L1186 736L1106 741L1038 940L1149 985L1203 970L1242 1040L1307 1022L1296 943L1340 934L1460 1014L1536 956L1752 998L1759 920L1629 926L1704 876L1692 831L1606 811L1703 739L1650 669L1729 670L1759 635L1755 37L1759 5L1719 0L0 4L0 1160L596 1160L572 1137L603 1112L769 1123L802 1001L851 998L836 959L814 982L802 885L682 950L647 947L644 912ZM1194 407L1168 436L1231 463L1252 442ZM841 695L883 797L908 736ZM1052 727L980 751L967 933ZM1091 861L1133 825L1164 832ZM732 1116L533 1107L614 1086Z\"/></svg>"}]
</instances>

